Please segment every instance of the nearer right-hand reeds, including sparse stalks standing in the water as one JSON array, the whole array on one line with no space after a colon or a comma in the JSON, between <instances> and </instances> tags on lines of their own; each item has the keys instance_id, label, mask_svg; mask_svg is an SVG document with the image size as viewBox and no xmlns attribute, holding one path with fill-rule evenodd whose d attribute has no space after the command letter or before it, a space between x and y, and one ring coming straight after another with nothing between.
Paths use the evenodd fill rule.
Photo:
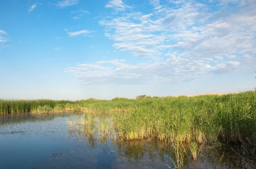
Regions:
<instances>
[{"instance_id":1,"label":"nearer right-hand reeds, including sparse stalks standing in the water","mask_svg":"<svg viewBox=\"0 0 256 169\"><path fill-rule=\"evenodd\" d=\"M120 141L165 141L173 146L173 163L177 168L188 157L196 161L203 144L241 144L255 151L255 91L221 96L90 99L76 104L87 112L85 132L93 134L98 130L98 137L112 135ZM108 118L102 113L109 114Z\"/></svg>"}]
</instances>

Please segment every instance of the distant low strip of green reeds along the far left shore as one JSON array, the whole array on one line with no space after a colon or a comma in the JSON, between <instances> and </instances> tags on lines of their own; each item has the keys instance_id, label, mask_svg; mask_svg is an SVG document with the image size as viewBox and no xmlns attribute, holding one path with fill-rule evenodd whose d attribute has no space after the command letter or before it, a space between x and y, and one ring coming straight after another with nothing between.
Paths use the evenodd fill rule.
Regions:
<instances>
[{"instance_id":1,"label":"distant low strip of green reeds along the far left shore","mask_svg":"<svg viewBox=\"0 0 256 169\"><path fill-rule=\"evenodd\" d=\"M86 112L86 113L116 113L133 110L135 105L143 104L145 100L115 98L112 100L87 99L81 101L55 100L0 100L0 113L57 113L57 112Z\"/></svg>"}]
</instances>

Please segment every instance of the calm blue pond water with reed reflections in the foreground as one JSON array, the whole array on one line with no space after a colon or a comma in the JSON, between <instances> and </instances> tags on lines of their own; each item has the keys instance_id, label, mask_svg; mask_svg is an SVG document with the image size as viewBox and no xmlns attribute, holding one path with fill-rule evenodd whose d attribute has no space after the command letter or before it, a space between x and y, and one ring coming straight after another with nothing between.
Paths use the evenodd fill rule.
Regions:
<instances>
[{"instance_id":1,"label":"calm blue pond water with reed reflections in the foreground","mask_svg":"<svg viewBox=\"0 0 256 169\"><path fill-rule=\"evenodd\" d=\"M123 141L70 130L67 120L79 114L0 115L0 169L166 168L175 167L170 145L160 141ZM256 155L239 147L202 148L186 168L256 168ZM221 158L222 157L222 158ZM172 159L172 160L171 160ZM221 159L221 160L220 160Z\"/></svg>"}]
</instances>

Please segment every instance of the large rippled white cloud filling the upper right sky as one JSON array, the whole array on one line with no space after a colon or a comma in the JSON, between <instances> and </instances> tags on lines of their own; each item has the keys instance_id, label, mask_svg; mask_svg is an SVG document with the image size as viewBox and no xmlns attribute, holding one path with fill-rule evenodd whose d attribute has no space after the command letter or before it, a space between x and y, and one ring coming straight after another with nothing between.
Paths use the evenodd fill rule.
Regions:
<instances>
[{"instance_id":1,"label":"large rippled white cloud filling the upper right sky","mask_svg":"<svg viewBox=\"0 0 256 169\"><path fill-rule=\"evenodd\" d=\"M146 15L141 12L125 13L99 23L105 27L106 37L130 46L131 51L143 48L159 54L177 50L183 56L198 58L256 51L253 39L256 31L253 8L256 5L239 7L240 11L236 13L222 9L211 13L210 6L194 0L171 2L177 6L158 8ZM151 3L160 5L157 0ZM136 52L134 55L137 56Z\"/></svg>"}]
</instances>

